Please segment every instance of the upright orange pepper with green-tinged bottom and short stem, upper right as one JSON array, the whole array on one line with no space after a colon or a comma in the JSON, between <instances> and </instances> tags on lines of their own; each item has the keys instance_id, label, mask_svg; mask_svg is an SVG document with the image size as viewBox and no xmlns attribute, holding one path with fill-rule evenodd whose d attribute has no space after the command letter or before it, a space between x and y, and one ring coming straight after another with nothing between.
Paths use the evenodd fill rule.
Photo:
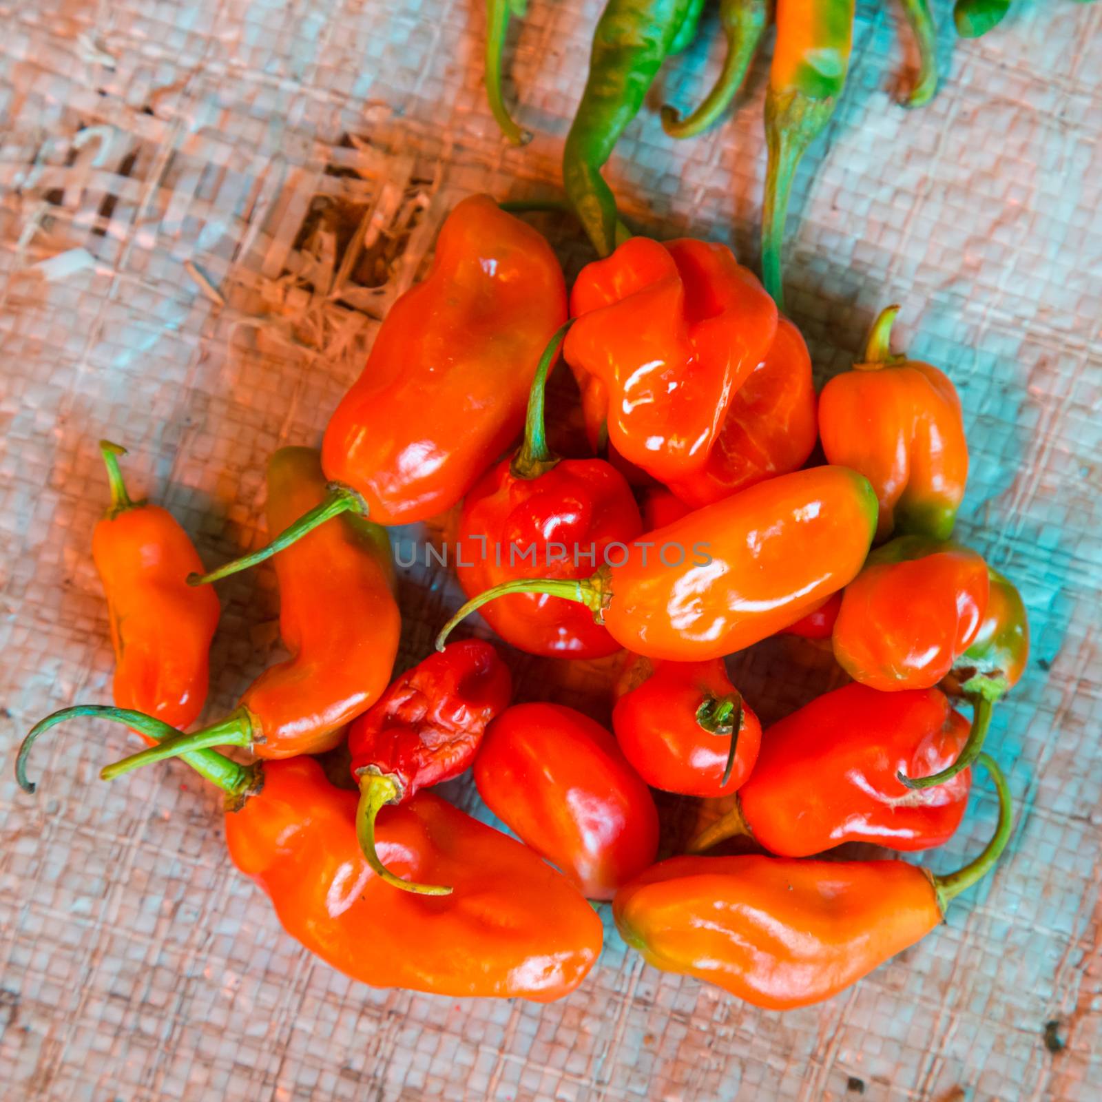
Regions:
<instances>
[{"instance_id":1,"label":"upright orange pepper with green-tinged bottom and short stem, upper right","mask_svg":"<svg viewBox=\"0 0 1102 1102\"><path fill-rule=\"evenodd\" d=\"M930 364L890 352L888 306L877 317L864 360L819 396L819 433L831 463L860 471L876 490L877 541L897 534L944 540L968 482L960 397Z\"/></svg>"}]
</instances>

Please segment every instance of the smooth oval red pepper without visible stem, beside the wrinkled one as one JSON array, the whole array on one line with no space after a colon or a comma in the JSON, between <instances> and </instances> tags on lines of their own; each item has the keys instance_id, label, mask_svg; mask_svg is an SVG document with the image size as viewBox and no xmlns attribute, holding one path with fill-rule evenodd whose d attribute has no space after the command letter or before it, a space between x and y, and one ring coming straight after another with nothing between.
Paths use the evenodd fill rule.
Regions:
<instances>
[{"instance_id":1,"label":"smooth oval red pepper without visible stem, beside the wrinkled one","mask_svg":"<svg viewBox=\"0 0 1102 1102\"><path fill-rule=\"evenodd\" d=\"M581 712L514 705L489 725L474 773L490 811L591 899L612 899L655 860L650 790Z\"/></svg>"}]
</instances>

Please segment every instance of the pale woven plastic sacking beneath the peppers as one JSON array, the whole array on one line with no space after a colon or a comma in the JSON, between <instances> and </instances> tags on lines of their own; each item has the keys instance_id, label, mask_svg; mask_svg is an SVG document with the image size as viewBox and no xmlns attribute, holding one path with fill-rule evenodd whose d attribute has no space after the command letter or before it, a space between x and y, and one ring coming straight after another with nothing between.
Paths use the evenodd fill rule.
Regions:
<instances>
[{"instance_id":1,"label":"pale woven plastic sacking beneath the peppers","mask_svg":"<svg viewBox=\"0 0 1102 1102\"><path fill-rule=\"evenodd\" d=\"M348 298L381 316L457 195L552 193L601 0L532 0L510 33L507 96L537 133L522 151L484 105L476 0L0 0L4 1099L1099 1096L1102 3L1025 0L974 43L933 7L944 84L907 112L890 96L898 13L858 3L830 150L796 183L789 309L820 381L898 301L897 346L960 388L959 533L1022 587L1034 631L990 739L1018 821L946 926L780 1015L645 966L607 907L601 963L560 1003L374 991L282 933L226 858L217 795L183 765L97 779L133 744L121 727L47 736L35 798L11 779L35 719L110 698L97 439L130 447L134 496L170 508L208 564L259 543L268 455L320 440L375 328L303 290L315 196L366 220L370 270ZM766 65L716 130L677 143L658 125L662 99L695 101L717 69L714 13L704 25L612 177L640 225L756 263ZM324 258L326 234L313 241ZM574 240L569 262L584 255ZM277 305L281 326L258 327ZM219 595L207 717L277 647L270 570ZM457 596L446 575L403 581L401 665ZM834 683L808 655L773 640L732 660L764 720ZM512 662L528 699L607 709L607 669ZM975 791L931 867L988 835L990 781ZM471 802L465 785L449 795Z\"/></svg>"}]
</instances>

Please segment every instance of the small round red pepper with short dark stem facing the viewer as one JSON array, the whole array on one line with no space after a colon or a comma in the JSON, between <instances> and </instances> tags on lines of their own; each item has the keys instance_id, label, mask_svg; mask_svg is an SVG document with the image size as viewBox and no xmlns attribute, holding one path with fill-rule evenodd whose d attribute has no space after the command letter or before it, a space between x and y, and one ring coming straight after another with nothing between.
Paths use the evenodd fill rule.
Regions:
<instances>
[{"instance_id":1,"label":"small round red pepper with short dark stem facing the viewer","mask_svg":"<svg viewBox=\"0 0 1102 1102\"><path fill-rule=\"evenodd\" d=\"M651 662L635 658L620 680L613 731L652 788L730 796L754 769L761 724L731 683L722 658Z\"/></svg>"}]
</instances>

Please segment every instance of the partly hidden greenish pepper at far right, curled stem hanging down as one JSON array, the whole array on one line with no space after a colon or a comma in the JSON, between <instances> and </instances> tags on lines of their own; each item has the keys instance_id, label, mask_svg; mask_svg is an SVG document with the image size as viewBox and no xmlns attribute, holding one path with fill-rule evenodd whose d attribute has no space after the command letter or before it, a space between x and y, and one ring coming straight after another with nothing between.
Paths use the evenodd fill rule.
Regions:
<instances>
[{"instance_id":1,"label":"partly hidden greenish pepper at far right, curled stem hanging down","mask_svg":"<svg viewBox=\"0 0 1102 1102\"><path fill-rule=\"evenodd\" d=\"M953 662L942 681L952 695L972 705L972 730L953 765L932 776L903 776L908 788L927 789L951 781L971 766L983 749L994 705L1013 689L1025 672L1029 658L1029 622L1022 594L1008 579L987 568L991 592L987 609L972 646Z\"/></svg>"}]
</instances>

